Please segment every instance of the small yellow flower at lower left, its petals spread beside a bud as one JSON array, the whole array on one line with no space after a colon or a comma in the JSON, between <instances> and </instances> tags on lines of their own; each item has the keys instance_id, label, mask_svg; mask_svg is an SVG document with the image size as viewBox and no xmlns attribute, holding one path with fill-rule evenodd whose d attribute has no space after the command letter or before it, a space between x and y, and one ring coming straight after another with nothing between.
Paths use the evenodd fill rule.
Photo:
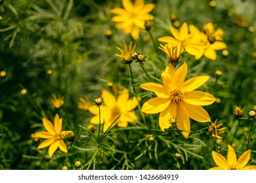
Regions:
<instances>
[{"instance_id":1,"label":"small yellow flower at lower left, its petals spread beside a bud","mask_svg":"<svg viewBox=\"0 0 256 183\"><path fill-rule=\"evenodd\" d=\"M50 157L53 156L57 148L60 148L60 150L67 153L68 149L65 142L62 140L62 118L56 114L54 118L54 125L49 120L43 118L43 126L47 131L39 131L35 133L35 135L47 140L41 142L37 148L41 149L50 146L48 151Z\"/></svg>"}]
</instances>

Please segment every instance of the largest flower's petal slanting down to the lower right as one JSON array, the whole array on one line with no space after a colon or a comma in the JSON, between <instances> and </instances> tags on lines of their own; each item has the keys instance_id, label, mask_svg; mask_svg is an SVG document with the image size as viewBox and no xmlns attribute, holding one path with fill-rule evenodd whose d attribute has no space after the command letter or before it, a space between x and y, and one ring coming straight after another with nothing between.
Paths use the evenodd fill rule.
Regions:
<instances>
[{"instance_id":1,"label":"largest flower's petal slanting down to the lower right","mask_svg":"<svg viewBox=\"0 0 256 183\"><path fill-rule=\"evenodd\" d=\"M181 103L186 108L186 111L188 112L188 116L193 120L197 122L211 122L211 118L208 112L204 108L198 105L191 105L184 101L182 101Z\"/></svg>"}]
</instances>

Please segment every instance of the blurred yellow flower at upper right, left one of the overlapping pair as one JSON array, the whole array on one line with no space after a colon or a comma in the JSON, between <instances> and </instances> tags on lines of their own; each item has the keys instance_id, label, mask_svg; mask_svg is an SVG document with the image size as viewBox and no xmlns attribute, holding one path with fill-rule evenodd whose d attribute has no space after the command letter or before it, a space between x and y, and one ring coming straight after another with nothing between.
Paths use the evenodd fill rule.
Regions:
<instances>
[{"instance_id":1,"label":"blurred yellow flower at upper right, left one of the overlapping pair","mask_svg":"<svg viewBox=\"0 0 256 183\"><path fill-rule=\"evenodd\" d=\"M184 22L181 25L180 31L178 31L175 27L170 26L170 31L173 37L164 36L160 37L158 41L161 42L170 42L172 46L178 46L179 42L183 43L184 50L193 56L200 54L200 49L204 47L201 42L200 34L189 33L188 32L188 24Z\"/></svg>"}]
</instances>

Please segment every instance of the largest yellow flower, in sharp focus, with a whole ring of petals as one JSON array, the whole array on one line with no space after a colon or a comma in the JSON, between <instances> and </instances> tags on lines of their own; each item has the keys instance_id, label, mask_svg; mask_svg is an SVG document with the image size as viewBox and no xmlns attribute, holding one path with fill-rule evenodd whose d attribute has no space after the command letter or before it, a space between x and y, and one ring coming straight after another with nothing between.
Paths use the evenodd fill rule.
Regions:
<instances>
[{"instance_id":1,"label":"largest yellow flower, in sharp focus, with a whole ring of petals","mask_svg":"<svg viewBox=\"0 0 256 183\"><path fill-rule=\"evenodd\" d=\"M211 119L205 109L200 105L210 105L215 97L210 93L192 91L204 84L209 76L196 76L186 80L188 66L184 63L177 71L169 64L161 73L163 85L154 82L141 84L140 87L156 93L157 97L150 99L142 106L142 112L155 114L160 112L159 124L161 130L176 124L182 135L188 138L190 133L190 120L210 122ZM175 123L171 123L175 119Z\"/></svg>"}]
</instances>

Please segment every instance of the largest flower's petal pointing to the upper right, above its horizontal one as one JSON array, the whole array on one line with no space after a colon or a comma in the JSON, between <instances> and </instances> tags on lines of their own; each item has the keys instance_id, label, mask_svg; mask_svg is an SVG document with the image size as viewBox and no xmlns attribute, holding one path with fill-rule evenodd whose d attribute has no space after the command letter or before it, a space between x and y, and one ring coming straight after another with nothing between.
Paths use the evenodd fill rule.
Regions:
<instances>
[{"instance_id":1,"label":"largest flower's petal pointing to the upper right, above its horizontal one","mask_svg":"<svg viewBox=\"0 0 256 183\"><path fill-rule=\"evenodd\" d=\"M209 78L209 76L196 76L194 78L186 80L182 85L182 92L190 92L192 90L195 90L196 88L202 86L202 84L207 82Z\"/></svg>"}]
</instances>

